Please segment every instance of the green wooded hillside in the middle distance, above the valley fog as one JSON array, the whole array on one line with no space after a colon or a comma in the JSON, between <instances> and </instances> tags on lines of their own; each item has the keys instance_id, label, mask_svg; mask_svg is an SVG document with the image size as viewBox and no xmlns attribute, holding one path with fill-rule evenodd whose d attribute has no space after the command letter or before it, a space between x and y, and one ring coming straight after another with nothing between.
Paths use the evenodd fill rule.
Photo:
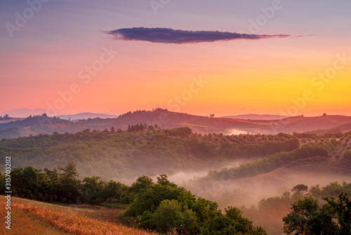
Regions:
<instances>
[{"instance_id":1,"label":"green wooded hillside in the middle distance, above the valley fog","mask_svg":"<svg viewBox=\"0 0 351 235\"><path fill-rule=\"evenodd\" d=\"M187 127L161 132L97 132L4 139L0 156L13 156L13 166L53 168L73 161L81 176L104 179L155 175L179 170L221 167L239 158L257 158L298 148L295 136L204 136Z\"/></svg>"}]
</instances>

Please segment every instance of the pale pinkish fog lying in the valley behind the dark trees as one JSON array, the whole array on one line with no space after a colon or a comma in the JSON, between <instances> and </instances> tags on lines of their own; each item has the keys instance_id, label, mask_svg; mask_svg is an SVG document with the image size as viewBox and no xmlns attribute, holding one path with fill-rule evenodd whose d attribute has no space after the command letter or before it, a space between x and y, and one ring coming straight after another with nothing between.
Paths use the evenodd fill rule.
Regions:
<instances>
[{"instance_id":1,"label":"pale pinkish fog lying in the valley behind the dark trees","mask_svg":"<svg viewBox=\"0 0 351 235\"><path fill-rule=\"evenodd\" d=\"M213 168L207 168L204 170L192 170L192 171L180 171L177 173L170 174L169 172L164 172L159 170L159 174L167 174L168 180L178 184L179 186L184 186L185 189L190 190L192 193L202 198L206 198L211 201L216 201L220 209L227 208L232 205L237 208L255 208L258 207L258 202L263 198L269 198L272 196L282 196L285 191L291 192L293 186L297 184L305 184L309 186L319 186L323 187L331 182L338 182L342 184L343 182L351 182L350 176L345 176L342 174L332 174L322 171L314 170L298 170L292 168L282 167L280 169L274 170L267 174L260 174L256 177L248 177L243 179L227 179L223 181L213 181L208 180L206 186L199 186L197 182L193 181L194 177L204 177L208 174L210 170L220 170L223 167L239 167L240 165L248 163L250 160L234 160L231 162L223 163L220 165L214 164ZM215 166L216 165L216 166ZM157 176L154 175L152 179L157 182ZM119 182L131 185L135 182L135 179L118 179ZM275 215L272 212L263 215L267 217L265 221L260 220L256 222L255 217L252 214L246 214L244 216L248 217L249 220L253 220L256 225L263 226L269 235L280 235L282 234L282 217L284 217L289 212L290 205ZM277 209L279 210L279 209Z\"/></svg>"}]
</instances>

